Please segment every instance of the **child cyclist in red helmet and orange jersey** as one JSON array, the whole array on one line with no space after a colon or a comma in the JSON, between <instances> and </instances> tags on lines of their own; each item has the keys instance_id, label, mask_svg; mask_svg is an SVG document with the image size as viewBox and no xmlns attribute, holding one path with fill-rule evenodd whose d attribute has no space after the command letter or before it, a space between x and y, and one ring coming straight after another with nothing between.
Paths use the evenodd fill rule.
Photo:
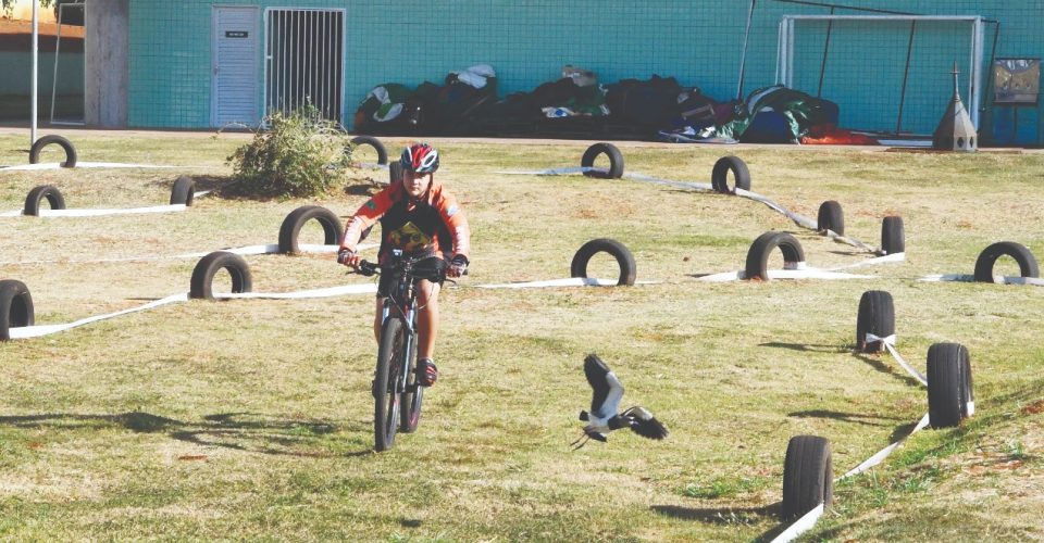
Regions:
<instances>
[{"instance_id":1,"label":"child cyclist in red helmet and orange jersey","mask_svg":"<svg viewBox=\"0 0 1044 543\"><path fill-rule=\"evenodd\" d=\"M446 267L448 277L460 277L468 269L471 231L457 199L435 181L438 151L426 143L414 143L402 151L402 180L366 201L348 220L338 262L358 269L362 258L357 247L363 232L381 223L381 250L377 262L386 264L393 249L417 257L428 255ZM448 265L447 265L448 261ZM377 283L377 305L373 333L381 341L381 316L388 296L391 274L382 274ZM418 282L418 382L431 387L438 378L433 358L438 332L438 291L440 282Z\"/></svg>"}]
</instances>

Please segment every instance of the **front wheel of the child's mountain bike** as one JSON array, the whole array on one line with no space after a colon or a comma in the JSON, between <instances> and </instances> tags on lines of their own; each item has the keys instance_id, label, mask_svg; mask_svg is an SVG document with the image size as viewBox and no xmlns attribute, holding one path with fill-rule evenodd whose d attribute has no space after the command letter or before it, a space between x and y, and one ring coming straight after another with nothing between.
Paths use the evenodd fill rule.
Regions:
<instances>
[{"instance_id":1,"label":"front wheel of the child's mountain bike","mask_svg":"<svg viewBox=\"0 0 1044 543\"><path fill-rule=\"evenodd\" d=\"M395 390L403 350L402 321L388 318L381 327L377 370L373 378L373 433L377 452L391 449L399 428L399 393Z\"/></svg>"}]
</instances>

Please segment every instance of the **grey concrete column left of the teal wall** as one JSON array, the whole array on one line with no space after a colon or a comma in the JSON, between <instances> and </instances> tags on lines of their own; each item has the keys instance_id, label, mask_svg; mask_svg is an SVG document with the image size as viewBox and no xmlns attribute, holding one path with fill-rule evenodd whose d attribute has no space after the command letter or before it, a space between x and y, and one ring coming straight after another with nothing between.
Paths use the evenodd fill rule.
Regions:
<instances>
[{"instance_id":1,"label":"grey concrete column left of the teal wall","mask_svg":"<svg viewBox=\"0 0 1044 543\"><path fill-rule=\"evenodd\" d=\"M85 4L84 117L87 126L126 128L130 0Z\"/></svg>"}]
</instances>

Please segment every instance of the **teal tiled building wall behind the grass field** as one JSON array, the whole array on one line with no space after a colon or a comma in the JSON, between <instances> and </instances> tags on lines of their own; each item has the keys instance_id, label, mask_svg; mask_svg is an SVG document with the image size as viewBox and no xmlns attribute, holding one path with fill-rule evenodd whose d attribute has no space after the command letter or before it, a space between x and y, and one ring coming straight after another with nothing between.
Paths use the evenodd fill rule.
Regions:
<instances>
[{"instance_id":1,"label":"teal tiled building wall behind the grass field","mask_svg":"<svg viewBox=\"0 0 1044 543\"><path fill-rule=\"evenodd\" d=\"M828 3L828 2L824 2ZM847 7L925 15L981 15L984 62L1044 56L1042 0L845 0ZM221 2L135 0L130 5L130 124L204 128L210 123L210 29L214 4L346 10L345 121L375 85L440 81L476 63L497 71L499 93L529 91L573 64L602 83L673 76L724 101L735 98L750 2L679 0L284 0ZM778 26L784 14L826 14L830 8L758 0L747 45L743 94L775 83ZM857 14L835 9L836 14ZM949 70L967 89L968 25L918 23L907 89L902 81L909 23L837 23L823 73L822 97L841 105L843 126L930 132L952 91ZM794 87L816 94L824 24L797 33ZM260 59L259 59L260 62ZM989 66L983 66L989 74ZM986 84L985 79L983 81ZM989 88L983 89L989 91ZM898 125L903 102L902 125ZM260 102L260 100L259 100ZM990 106L983 96L982 138L1041 142L1040 109ZM989 134L987 134L989 132Z\"/></svg>"}]
</instances>

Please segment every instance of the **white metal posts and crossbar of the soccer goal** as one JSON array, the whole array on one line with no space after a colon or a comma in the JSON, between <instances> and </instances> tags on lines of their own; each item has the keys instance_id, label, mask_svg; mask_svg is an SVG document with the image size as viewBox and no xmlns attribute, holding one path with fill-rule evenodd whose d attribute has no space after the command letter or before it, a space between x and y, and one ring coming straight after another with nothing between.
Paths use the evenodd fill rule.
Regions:
<instances>
[{"instance_id":1,"label":"white metal posts and crossbar of the soccer goal","mask_svg":"<svg viewBox=\"0 0 1044 543\"><path fill-rule=\"evenodd\" d=\"M795 25L803 21L822 21L828 23L826 29L826 45L824 47L824 59L826 51L825 49L830 47L830 26L835 21L847 21L847 22L858 22L863 23L868 28L868 31L872 31L873 25L881 23L896 23L896 22L909 22L911 24L910 31L910 46L907 48L907 61L906 70L909 70L909 53L912 48L913 42L913 28L916 28L918 21L924 22L954 22L954 23L968 23L969 33L970 33L970 50L968 51L967 56L967 74L970 76L967 78L967 93L965 94L968 103L968 112L971 117L972 124L975 126L975 129L979 129L979 106L981 102L981 89L982 89L982 79L983 79L983 39L984 39L984 25L985 22L979 15L783 15L780 20L779 26L779 41L776 48L776 63L775 63L775 80L788 88L794 86L794 53L796 50ZM825 62L825 61L824 61ZM823 70L821 67L820 70ZM903 89L902 92L905 96L907 87L906 75L904 74L903 79ZM898 122L896 126L896 132L900 130L903 116L903 104L900 100L900 105L898 110Z\"/></svg>"}]
</instances>

